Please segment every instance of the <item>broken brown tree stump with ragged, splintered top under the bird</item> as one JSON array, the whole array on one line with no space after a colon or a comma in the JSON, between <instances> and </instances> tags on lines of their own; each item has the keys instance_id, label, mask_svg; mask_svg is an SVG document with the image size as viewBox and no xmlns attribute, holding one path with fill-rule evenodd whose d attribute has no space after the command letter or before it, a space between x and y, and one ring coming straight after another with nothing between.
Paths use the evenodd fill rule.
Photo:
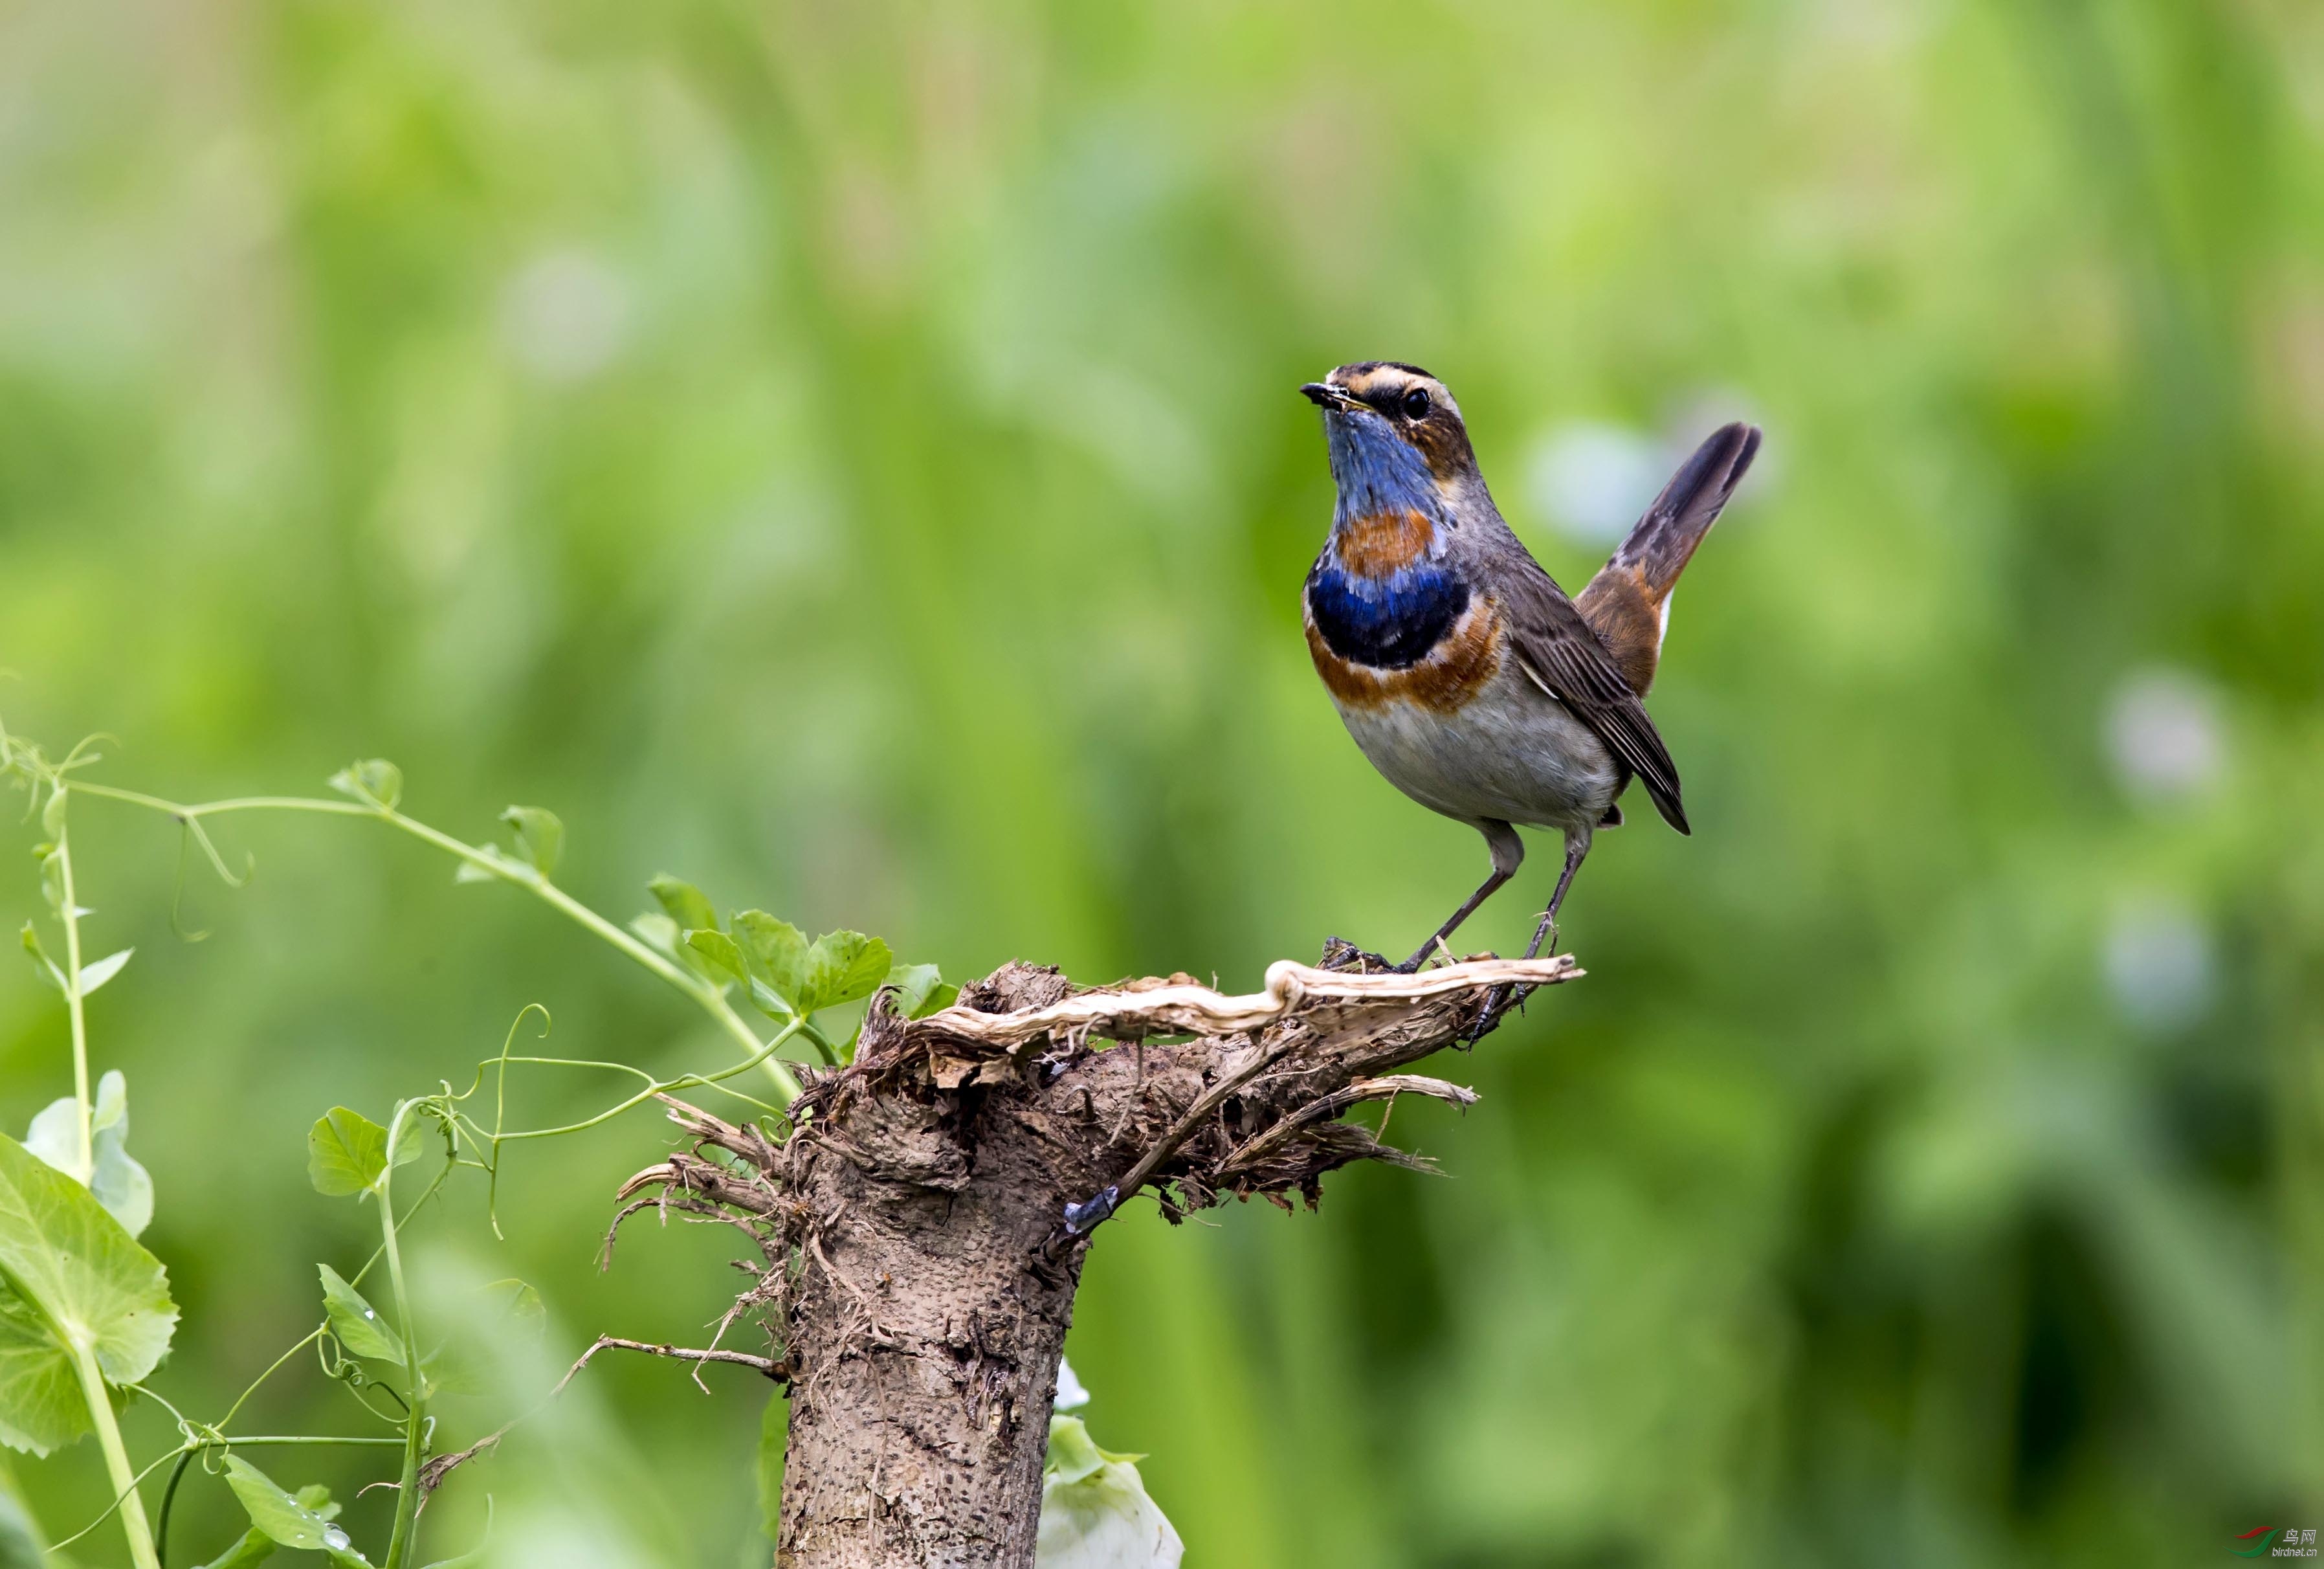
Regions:
<instances>
[{"instance_id":1,"label":"broken brown tree stump with ragged, splintered top under the bird","mask_svg":"<svg viewBox=\"0 0 2324 1569\"><path fill-rule=\"evenodd\" d=\"M1188 976L1081 990L1006 965L930 1018L883 997L851 1067L802 1072L788 1144L672 1102L695 1148L630 1178L623 1213L732 1223L760 1248L727 1325L765 1325L762 1371L790 1383L776 1567L1032 1569L1090 1246L1067 1204L1146 1185L1176 1223L1253 1192L1313 1206L1353 1160L1427 1169L1339 1116L1397 1095L1471 1104L1392 1069L1478 1027L1497 988L1578 974L1571 958L1418 976L1281 962L1264 993L1222 997Z\"/></svg>"}]
</instances>

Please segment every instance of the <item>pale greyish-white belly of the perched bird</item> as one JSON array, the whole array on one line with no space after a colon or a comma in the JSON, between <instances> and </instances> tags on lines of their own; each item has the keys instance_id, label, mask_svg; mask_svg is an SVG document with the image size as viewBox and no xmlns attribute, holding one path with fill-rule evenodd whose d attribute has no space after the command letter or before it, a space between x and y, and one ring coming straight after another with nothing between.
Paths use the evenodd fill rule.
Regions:
<instances>
[{"instance_id":1,"label":"pale greyish-white belly of the perched bird","mask_svg":"<svg viewBox=\"0 0 2324 1569\"><path fill-rule=\"evenodd\" d=\"M1387 783L1464 823L1594 828L1622 783L1606 741L1513 662L1457 714L1415 702L1336 707Z\"/></svg>"}]
</instances>

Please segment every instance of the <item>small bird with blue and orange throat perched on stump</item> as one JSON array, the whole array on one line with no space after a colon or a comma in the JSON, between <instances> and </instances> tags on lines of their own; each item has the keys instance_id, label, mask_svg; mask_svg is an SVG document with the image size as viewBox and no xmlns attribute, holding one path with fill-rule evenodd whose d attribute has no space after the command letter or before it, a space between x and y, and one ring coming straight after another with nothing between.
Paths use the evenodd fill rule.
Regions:
<instances>
[{"instance_id":1,"label":"small bird with blue and orange throat perched on stump","mask_svg":"<svg viewBox=\"0 0 2324 1569\"><path fill-rule=\"evenodd\" d=\"M1315 674L1371 765L1476 828L1492 853L1492 876L1394 969L1418 969L1515 876L1520 823L1566 839L1525 951L1534 958L1590 837L1622 821L1615 797L1631 776L1687 832L1678 769L1641 697L1671 586L1759 451L1759 430L1724 425L1694 449L1569 600L1501 521L1443 381L1367 360L1299 391L1322 409L1339 486L1304 593Z\"/></svg>"}]
</instances>

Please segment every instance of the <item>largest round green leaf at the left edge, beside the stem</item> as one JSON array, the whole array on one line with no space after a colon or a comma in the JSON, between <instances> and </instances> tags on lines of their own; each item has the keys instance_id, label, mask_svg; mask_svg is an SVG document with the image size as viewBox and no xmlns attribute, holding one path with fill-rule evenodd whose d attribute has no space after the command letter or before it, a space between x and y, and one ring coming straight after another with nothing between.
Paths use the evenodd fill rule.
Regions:
<instances>
[{"instance_id":1,"label":"largest round green leaf at the left edge, beside the stem","mask_svg":"<svg viewBox=\"0 0 2324 1569\"><path fill-rule=\"evenodd\" d=\"M74 1357L88 1353L112 1385L135 1383L174 1327L160 1260L95 1195L0 1134L0 1441L46 1453L81 1437Z\"/></svg>"}]
</instances>

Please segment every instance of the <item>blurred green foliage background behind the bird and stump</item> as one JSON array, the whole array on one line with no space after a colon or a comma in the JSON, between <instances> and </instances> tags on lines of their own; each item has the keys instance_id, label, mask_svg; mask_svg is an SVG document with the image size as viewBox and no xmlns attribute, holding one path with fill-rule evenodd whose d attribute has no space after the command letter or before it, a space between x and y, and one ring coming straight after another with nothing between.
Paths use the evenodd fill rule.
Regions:
<instances>
[{"instance_id":1,"label":"blurred green foliage background behind the bird and stump","mask_svg":"<svg viewBox=\"0 0 2324 1569\"><path fill-rule=\"evenodd\" d=\"M184 800L376 753L467 837L546 804L616 916L669 869L955 979L1250 988L1401 953L1485 862L1308 669L1292 388L1446 377L1569 586L1757 418L1655 688L1694 837L1601 837L1590 979L1441 1067L1466 1118L1397 1111L1446 1178L1109 1227L1090 1427L1202 1567L2224 1560L2324 1525L2319 144L2301 0L30 0L0 716ZM465 1081L535 1000L555 1051L723 1058L418 846L223 839L258 879L188 874L186 944L174 830L74 809L202 1416L370 1246L318 1111ZM67 1090L7 972L0 1123ZM472 1183L421 1225L555 1318L456 1437L597 1330L706 1332L716 1237L595 1269L665 1144L521 1151L507 1241ZM765 1564L762 1409L600 1362L428 1555L490 1495L500 1562ZM249 1425L360 1416L300 1362ZM16 1471L51 1534L107 1492L91 1443ZM232 1520L188 1483L174 1562Z\"/></svg>"}]
</instances>

